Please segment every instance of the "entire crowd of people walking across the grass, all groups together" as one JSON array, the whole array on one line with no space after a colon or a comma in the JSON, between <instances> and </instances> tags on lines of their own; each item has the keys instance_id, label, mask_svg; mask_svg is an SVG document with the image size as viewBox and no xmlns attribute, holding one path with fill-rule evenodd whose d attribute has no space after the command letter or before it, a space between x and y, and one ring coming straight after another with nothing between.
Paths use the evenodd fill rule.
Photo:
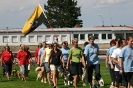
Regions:
<instances>
[{"instance_id":1,"label":"entire crowd of people walking across the grass, all groups together","mask_svg":"<svg viewBox=\"0 0 133 88\"><path fill-rule=\"evenodd\" d=\"M59 73L64 85L66 85L65 76L68 72L68 82L73 82L74 88L77 88L77 83L80 80L82 80L83 86L86 86L85 78L87 78L90 88L93 86L99 88L99 80L101 79L99 47L94 43L94 36L89 36L88 40L84 43L84 49L78 46L77 38L72 40L73 46L71 48L68 47L67 41L62 42L61 45L58 44L58 40L57 42L39 43L34 56L37 66L41 67L43 72L41 82L48 82L49 86L53 85L54 88L58 88ZM133 75L133 37L128 37L127 40L113 39L110 41L110 46L106 56L106 67L109 68L111 75L111 88L119 88L119 86L130 88ZM28 46L21 44L15 63L20 66L23 81L26 81L28 77L31 61ZM13 63L14 55L7 45L1 53L1 64L8 80L11 76ZM93 74L93 70L95 70L95 74ZM95 84L92 81L93 75L95 75Z\"/></svg>"}]
</instances>

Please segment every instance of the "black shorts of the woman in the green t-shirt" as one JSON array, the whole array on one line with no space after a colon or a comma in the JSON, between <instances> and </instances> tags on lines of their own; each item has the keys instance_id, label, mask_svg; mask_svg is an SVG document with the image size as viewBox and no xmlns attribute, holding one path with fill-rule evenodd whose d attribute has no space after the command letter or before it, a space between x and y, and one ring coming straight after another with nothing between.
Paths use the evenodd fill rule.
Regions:
<instances>
[{"instance_id":1,"label":"black shorts of the woman in the green t-shirt","mask_svg":"<svg viewBox=\"0 0 133 88\"><path fill-rule=\"evenodd\" d=\"M72 75L82 75L82 63L71 62L70 71Z\"/></svg>"}]
</instances>

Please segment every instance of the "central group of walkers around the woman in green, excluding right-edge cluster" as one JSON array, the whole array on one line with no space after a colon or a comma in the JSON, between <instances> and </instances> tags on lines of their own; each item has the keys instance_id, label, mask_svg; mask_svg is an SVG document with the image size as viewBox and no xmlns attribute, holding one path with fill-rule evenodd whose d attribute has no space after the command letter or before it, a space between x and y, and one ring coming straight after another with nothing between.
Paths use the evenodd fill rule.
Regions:
<instances>
[{"instance_id":1,"label":"central group of walkers around the woman in green, excluding right-edge cluster","mask_svg":"<svg viewBox=\"0 0 133 88\"><path fill-rule=\"evenodd\" d=\"M50 86L53 84L54 88L58 88L58 75L61 73L64 85L66 85L65 73L67 71L69 72L68 85L69 82L73 82L74 88L77 88L77 83L82 80L83 86L86 86L85 78L87 77L90 88L92 88L92 76L95 70L95 86L99 87L101 79L99 47L94 43L94 36L90 36L88 40L89 42L84 43L84 49L78 46L77 38L72 40L71 48L68 47L67 41L62 42L61 45L57 43L58 41L39 44L34 56L38 66L41 66L44 72L41 81L46 83L47 79Z\"/></svg>"}]
</instances>

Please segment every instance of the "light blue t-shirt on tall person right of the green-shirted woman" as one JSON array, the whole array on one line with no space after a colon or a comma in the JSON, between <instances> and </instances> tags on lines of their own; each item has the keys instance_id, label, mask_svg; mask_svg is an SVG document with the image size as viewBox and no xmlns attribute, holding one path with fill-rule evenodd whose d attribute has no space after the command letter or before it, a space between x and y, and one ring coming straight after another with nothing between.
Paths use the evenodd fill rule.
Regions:
<instances>
[{"instance_id":1,"label":"light blue t-shirt on tall person right of the green-shirted woman","mask_svg":"<svg viewBox=\"0 0 133 88\"><path fill-rule=\"evenodd\" d=\"M92 47L90 44L86 45L84 54L88 56L87 62L90 65L99 64L98 55L94 52L99 52L99 47L97 44L94 44L94 47Z\"/></svg>"}]
</instances>

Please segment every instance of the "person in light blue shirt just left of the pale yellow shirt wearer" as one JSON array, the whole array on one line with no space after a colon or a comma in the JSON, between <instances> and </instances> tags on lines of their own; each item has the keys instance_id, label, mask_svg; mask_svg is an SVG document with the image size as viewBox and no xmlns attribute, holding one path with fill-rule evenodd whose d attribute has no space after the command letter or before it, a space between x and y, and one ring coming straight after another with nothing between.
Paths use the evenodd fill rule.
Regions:
<instances>
[{"instance_id":1,"label":"person in light blue shirt just left of the pale yellow shirt wearer","mask_svg":"<svg viewBox=\"0 0 133 88\"><path fill-rule=\"evenodd\" d=\"M42 56L43 56L44 50L45 50L45 48L47 47L46 41L44 41L42 45L43 45L43 47L42 47L42 48L39 50L39 52L38 52L38 64L39 64L39 66L41 67L41 70L42 70L42 72L43 72L43 77L42 77L41 82L46 83L46 71L45 71L45 69L44 69L44 66L42 66L43 63L44 63L44 60L43 60L43 62L42 62L42 64L41 64ZM45 59L45 58L44 58L44 59Z\"/></svg>"}]
</instances>

